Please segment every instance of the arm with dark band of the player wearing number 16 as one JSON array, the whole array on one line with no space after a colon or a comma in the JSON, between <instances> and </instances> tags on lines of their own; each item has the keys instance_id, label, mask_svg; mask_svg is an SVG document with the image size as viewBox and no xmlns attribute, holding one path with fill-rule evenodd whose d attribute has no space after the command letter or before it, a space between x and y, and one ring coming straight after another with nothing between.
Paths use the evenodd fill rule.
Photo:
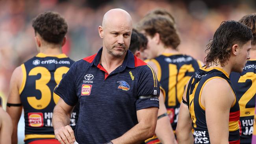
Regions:
<instances>
[{"instance_id":1,"label":"arm with dark band of the player wearing number 16","mask_svg":"<svg viewBox=\"0 0 256 144\"><path fill-rule=\"evenodd\" d=\"M162 144L177 144L176 139L174 137L173 128L171 127L170 119L167 116L165 100L163 92L161 92L161 90L159 96L158 120L156 123L155 133Z\"/></svg>"}]
</instances>

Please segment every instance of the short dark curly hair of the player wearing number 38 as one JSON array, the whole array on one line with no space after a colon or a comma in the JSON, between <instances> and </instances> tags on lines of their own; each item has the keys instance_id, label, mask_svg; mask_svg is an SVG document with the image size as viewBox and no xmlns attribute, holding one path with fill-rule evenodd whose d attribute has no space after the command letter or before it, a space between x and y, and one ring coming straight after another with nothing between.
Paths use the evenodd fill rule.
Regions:
<instances>
[{"instance_id":1,"label":"short dark curly hair of the player wearing number 38","mask_svg":"<svg viewBox=\"0 0 256 144\"><path fill-rule=\"evenodd\" d=\"M59 13L47 11L33 19L32 26L43 40L60 44L67 33L67 22Z\"/></svg>"}]
</instances>

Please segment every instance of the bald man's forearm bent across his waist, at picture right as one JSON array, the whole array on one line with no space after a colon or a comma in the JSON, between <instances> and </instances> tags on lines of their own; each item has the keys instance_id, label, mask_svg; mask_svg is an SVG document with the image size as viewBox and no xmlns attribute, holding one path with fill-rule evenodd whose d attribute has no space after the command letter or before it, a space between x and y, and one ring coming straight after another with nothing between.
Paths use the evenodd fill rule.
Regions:
<instances>
[{"instance_id":1,"label":"bald man's forearm bent across his waist, at picture right","mask_svg":"<svg viewBox=\"0 0 256 144\"><path fill-rule=\"evenodd\" d=\"M155 128L156 125L148 126L148 124L139 123L121 137L111 141L113 144L141 144L154 135Z\"/></svg>"}]
</instances>

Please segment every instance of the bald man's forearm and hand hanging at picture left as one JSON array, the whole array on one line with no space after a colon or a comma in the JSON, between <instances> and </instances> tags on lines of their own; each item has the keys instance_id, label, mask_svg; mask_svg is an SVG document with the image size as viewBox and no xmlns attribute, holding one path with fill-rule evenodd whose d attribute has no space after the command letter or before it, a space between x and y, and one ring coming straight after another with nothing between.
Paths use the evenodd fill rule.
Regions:
<instances>
[{"instance_id":1,"label":"bald man's forearm and hand hanging at picture left","mask_svg":"<svg viewBox=\"0 0 256 144\"><path fill-rule=\"evenodd\" d=\"M73 144L76 141L74 131L69 126L72 110L73 107L65 103L62 98L59 98L59 102L54 107L52 126L55 137L61 144Z\"/></svg>"}]
</instances>

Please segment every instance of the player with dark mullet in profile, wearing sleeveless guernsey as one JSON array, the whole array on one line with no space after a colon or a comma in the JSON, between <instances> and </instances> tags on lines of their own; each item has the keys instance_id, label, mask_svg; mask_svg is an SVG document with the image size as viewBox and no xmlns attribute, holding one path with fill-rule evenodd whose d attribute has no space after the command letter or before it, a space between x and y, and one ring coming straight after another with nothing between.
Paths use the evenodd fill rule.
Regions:
<instances>
[{"instance_id":1,"label":"player with dark mullet in profile, wearing sleeveless guernsey","mask_svg":"<svg viewBox=\"0 0 256 144\"><path fill-rule=\"evenodd\" d=\"M240 144L239 104L229 75L243 71L252 39L250 28L234 20L215 31L206 65L191 77L183 95L176 129L179 144Z\"/></svg>"}]
</instances>

